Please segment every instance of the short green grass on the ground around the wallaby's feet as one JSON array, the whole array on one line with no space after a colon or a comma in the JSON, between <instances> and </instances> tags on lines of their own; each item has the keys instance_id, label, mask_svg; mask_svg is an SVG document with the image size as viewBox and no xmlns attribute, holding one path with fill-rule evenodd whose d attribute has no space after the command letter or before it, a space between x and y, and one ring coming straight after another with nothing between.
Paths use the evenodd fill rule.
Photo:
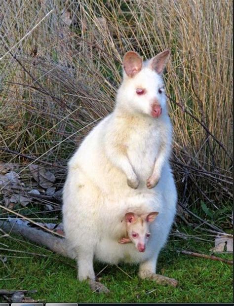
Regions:
<instances>
[{"instance_id":1,"label":"short green grass on the ground around the wallaby's feet","mask_svg":"<svg viewBox=\"0 0 234 306\"><path fill-rule=\"evenodd\" d=\"M4 254L6 257L31 257L7 257L5 267L0 263L0 288L36 289L38 293L31 296L42 302L233 302L232 266L175 252L176 249L183 248L210 254L209 250L213 245L209 242L197 242L193 239L170 240L163 249L159 256L157 272L177 279L177 288L139 279L137 266L120 265L128 275L116 266L109 266L99 275L101 282L111 290L109 295L92 293L86 282L79 283L76 279L75 261L52 254L23 240L19 244L12 238L4 238L1 243L11 249L48 255L39 257L0 252L1 256ZM232 258L230 254L218 256ZM98 273L104 267L105 265L96 263L94 268Z\"/></svg>"}]
</instances>

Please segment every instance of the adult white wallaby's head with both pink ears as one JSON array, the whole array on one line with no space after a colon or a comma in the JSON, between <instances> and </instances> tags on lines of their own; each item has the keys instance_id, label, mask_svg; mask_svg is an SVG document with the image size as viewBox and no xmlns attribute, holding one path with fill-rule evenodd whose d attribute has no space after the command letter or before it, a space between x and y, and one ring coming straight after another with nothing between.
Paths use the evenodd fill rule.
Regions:
<instances>
[{"instance_id":1,"label":"adult white wallaby's head with both pink ears","mask_svg":"<svg viewBox=\"0 0 234 306\"><path fill-rule=\"evenodd\" d=\"M143 62L138 53L127 52L123 58L123 81L118 89L117 105L130 113L154 118L166 112L162 73L169 53L165 50Z\"/></svg>"}]
</instances>

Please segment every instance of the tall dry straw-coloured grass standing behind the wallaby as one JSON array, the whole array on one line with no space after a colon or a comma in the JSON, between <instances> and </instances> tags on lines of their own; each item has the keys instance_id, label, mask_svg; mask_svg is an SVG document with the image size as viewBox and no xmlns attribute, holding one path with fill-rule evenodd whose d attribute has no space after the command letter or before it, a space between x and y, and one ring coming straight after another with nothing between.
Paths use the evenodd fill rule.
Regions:
<instances>
[{"instance_id":1,"label":"tall dry straw-coloured grass standing behind the wallaby","mask_svg":"<svg viewBox=\"0 0 234 306\"><path fill-rule=\"evenodd\" d=\"M232 16L231 0L2 0L1 158L65 166L112 111L124 53L169 48L179 202L222 210L232 197Z\"/></svg>"}]
</instances>

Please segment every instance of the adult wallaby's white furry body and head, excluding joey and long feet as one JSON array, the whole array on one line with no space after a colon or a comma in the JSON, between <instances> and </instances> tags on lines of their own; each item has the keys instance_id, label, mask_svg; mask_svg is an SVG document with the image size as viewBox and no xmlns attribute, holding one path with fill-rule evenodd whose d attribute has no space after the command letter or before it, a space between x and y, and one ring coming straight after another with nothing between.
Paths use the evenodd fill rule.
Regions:
<instances>
[{"instance_id":1,"label":"adult wallaby's white furry body and head, excluding joey and long feet","mask_svg":"<svg viewBox=\"0 0 234 306\"><path fill-rule=\"evenodd\" d=\"M79 280L95 279L94 258L140 263L143 278L156 272L177 200L168 162L172 126L161 76L168 54L142 62L137 53L126 53L113 113L93 128L69 161L63 219ZM122 217L136 210L159 213L145 252L133 243L118 243L126 232Z\"/></svg>"}]
</instances>

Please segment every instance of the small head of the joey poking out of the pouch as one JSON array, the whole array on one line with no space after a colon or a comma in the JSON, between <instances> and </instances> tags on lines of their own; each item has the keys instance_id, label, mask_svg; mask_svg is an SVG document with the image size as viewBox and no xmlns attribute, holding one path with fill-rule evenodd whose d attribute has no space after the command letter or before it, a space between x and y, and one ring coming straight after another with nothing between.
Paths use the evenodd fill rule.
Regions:
<instances>
[{"instance_id":1,"label":"small head of the joey poking out of the pouch","mask_svg":"<svg viewBox=\"0 0 234 306\"><path fill-rule=\"evenodd\" d=\"M125 214L128 237L139 252L145 252L151 234L150 223L155 220L157 215L156 211L140 216L131 212Z\"/></svg>"}]
</instances>

